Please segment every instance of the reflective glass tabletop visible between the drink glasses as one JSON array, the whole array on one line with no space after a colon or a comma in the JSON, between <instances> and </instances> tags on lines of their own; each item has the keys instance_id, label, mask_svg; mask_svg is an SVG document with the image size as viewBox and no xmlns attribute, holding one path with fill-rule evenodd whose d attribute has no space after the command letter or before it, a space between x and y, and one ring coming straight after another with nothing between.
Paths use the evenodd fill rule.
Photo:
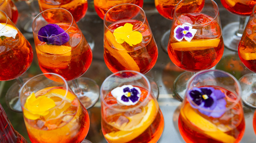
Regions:
<instances>
[{"instance_id":1,"label":"reflective glass tabletop visible between the drink glasses","mask_svg":"<svg viewBox=\"0 0 256 143\"><path fill-rule=\"evenodd\" d=\"M222 28L226 24L238 21L238 16L229 13L222 6L220 0L216 0L216 2L219 6ZM103 20L101 20L94 11L93 1L89 0L88 4L86 16L77 23L82 31L87 31L95 40L94 48L92 48L93 61L89 70L83 75L83 77L89 77L95 80L100 87L104 79L112 74L112 72L107 68L103 59ZM27 9L24 1L15 2L15 5L19 11ZM38 9L36 1L34 6L35 9ZM181 105L181 101L179 101L173 93L173 83L176 77L184 71L176 67L171 62L168 54L164 52L160 44L162 35L170 29L172 21L165 19L158 13L155 8L154 1L152 0L144 1L143 9L146 13L148 23L153 32L153 36L157 42L159 50L156 65L151 71L145 74L148 78L156 81L160 91L158 102L164 116L164 130L158 143L183 143L184 140L182 139L178 129L179 107ZM19 18L21 17L22 14L20 14ZM29 40L34 51L34 59L31 67L21 76L23 79L26 79L42 72L37 64L32 33L25 32L23 27L19 25L19 21L16 25L27 40ZM241 63L238 53L230 51L227 48L224 49L224 55L221 61L214 68L227 71L234 75L237 79L250 72ZM5 103L5 94L14 81L15 80L0 81L0 103L4 107L14 129L23 135L28 142L30 142L22 113L11 111ZM256 142L256 135L254 134L252 126L254 111L254 109L244 106L246 129L241 143ZM90 140L92 143L106 143L106 140L101 132L100 101L98 100L96 105L89 109L88 112L90 115L90 129L86 139Z\"/></svg>"}]
</instances>

